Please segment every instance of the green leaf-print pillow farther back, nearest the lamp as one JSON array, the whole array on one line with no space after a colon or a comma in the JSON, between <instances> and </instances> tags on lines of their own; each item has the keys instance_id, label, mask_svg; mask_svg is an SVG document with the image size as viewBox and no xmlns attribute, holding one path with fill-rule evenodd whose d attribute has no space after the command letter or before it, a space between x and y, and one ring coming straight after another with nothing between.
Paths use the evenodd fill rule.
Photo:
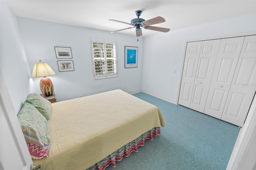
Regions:
<instances>
[{"instance_id":1,"label":"green leaf-print pillow farther back, nearest the lamp","mask_svg":"<svg viewBox=\"0 0 256 170\"><path fill-rule=\"evenodd\" d=\"M38 93L30 93L25 101L33 105L44 117L49 120L52 112L52 103Z\"/></svg>"}]
</instances>

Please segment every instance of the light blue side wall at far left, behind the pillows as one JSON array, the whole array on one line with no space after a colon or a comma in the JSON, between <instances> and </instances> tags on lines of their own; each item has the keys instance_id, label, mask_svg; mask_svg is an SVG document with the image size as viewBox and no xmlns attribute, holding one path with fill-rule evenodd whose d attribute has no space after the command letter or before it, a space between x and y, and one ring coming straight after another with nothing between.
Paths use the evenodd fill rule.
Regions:
<instances>
[{"instance_id":1,"label":"light blue side wall at far left, behind the pillows","mask_svg":"<svg viewBox=\"0 0 256 170\"><path fill-rule=\"evenodd\" d=\"M30 92L30 68L20 35L17 17L0 1L0 68L16 114Z\"/></svg>"}]
</instances>

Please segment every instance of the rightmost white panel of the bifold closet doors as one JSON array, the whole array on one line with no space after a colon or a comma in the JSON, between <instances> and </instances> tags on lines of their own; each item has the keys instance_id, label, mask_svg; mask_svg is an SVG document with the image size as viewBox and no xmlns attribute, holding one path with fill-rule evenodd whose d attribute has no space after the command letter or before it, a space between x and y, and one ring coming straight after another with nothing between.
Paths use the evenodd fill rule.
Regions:
<instances>
[{"instance_id":1,"label":"rightmost white panel of the bifold closet doors","mask_svg":"<svg viewBox=\"0 0 256 170\"><path fill-rule=\"evenodd\" d=\"M246 36L221 120L242 127L256 91L256 36Z\"/></svg>"}]
</instances>

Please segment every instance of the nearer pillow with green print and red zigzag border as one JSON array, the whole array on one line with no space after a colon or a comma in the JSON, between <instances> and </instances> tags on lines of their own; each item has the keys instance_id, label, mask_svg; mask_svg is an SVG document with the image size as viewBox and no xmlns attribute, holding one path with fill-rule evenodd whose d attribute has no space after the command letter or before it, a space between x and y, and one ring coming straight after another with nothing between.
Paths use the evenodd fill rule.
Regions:
<instances>
[{"instance_id":1,"label":"nearer pillow with green print and red zigzag border","mask_svg":"<svg viewBox=\"0 0 256 170\"><path fill-rule=\"evenodd\" d=\"M46 118L30 103L24 103L17 115L32 158L48 157L50 127Z\"/></svg>"}]
</instances>

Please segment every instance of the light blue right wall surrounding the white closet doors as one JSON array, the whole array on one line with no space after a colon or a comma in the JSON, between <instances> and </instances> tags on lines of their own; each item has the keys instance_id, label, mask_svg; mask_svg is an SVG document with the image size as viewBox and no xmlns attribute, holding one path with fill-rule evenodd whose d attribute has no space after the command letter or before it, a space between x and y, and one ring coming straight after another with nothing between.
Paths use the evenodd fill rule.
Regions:
<instances>
[{"instance_id":1,"label":"light blue right wall surrounding the white closet doors","mask_svg":"<svg viewBox=\"0 0 256 170\"><path fill-rule=\"evenodd\" d=\"M186 41L246 32L256 32L256 14L144 38L142 90L176 103Z\"/></svg>"}]
</instances>

